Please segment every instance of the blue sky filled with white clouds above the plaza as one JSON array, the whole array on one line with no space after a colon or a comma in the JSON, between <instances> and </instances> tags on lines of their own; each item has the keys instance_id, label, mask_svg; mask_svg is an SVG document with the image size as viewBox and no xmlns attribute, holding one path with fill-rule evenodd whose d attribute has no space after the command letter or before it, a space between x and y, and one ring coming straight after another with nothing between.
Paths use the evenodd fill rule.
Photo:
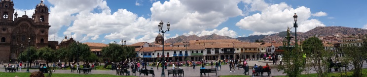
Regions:
<instances>
[{"instance_id":1,"label":"blue sky filled with white clouds above the plaza","mask_svg":"<svg viewBox=\"0 0 367 77\"><path fill-rule=\"evenodd\" d=\"M19 16L32 16L40 0L13 0ZM49 8L49 41L65 36L80 42L154 42L158 24L171 27L164 38L272 34L292 27L367 29L367 0L44 0ZM27 11L27 13L24 13ZM294 28L292 28L294 31Z\"/></svg>"}]
</instances>

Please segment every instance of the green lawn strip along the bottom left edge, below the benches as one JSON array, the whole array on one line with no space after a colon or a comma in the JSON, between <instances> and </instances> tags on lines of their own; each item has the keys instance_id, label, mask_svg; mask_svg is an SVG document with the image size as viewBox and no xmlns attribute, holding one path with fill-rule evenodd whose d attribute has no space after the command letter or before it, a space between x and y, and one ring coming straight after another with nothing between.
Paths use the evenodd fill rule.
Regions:
<instances>
[{"instance_id":1,"label":"green lawn strip along the bottom left edge, below the benches","mask_svg":"<svg viewBox=\"0 0 367 77\"><path fill-rule=\"evenodd\" d=\"M0 77L29 77L31 73L0 73ZM45 74L47 76L47 74ZM52 74L52 77L122 77L117 75L102 75L102 74L93 74L93 75L80 75L80 74ZM124 76L124 77L134 77L134 76Z\"/></svg>"}]
</instances>

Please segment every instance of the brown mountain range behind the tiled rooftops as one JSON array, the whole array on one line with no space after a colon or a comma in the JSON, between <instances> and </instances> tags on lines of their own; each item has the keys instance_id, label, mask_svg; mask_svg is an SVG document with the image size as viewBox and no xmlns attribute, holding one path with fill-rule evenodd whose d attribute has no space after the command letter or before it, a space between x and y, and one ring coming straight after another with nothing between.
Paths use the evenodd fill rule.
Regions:
<instances>
[{"instance_id":1,"label":"brown mountain range behind the tiled rooftops","mask_svg":"<svg viewBox=\"0 0 367 77\"><path fill-rule=\"evenodd\" d=\"M291 36L294 37L294 32L291 32ZM340 37L348 37L357 34L367 34L367 29L362 28L352 28L352 27L344 27L344 26L318 26L307 32L297 32L298 40L305 40L311 36L340 36ZM244 42L255 42L255 40L263 40L265 42L279 42L282 41L284 37L287 36L286 31L282 31L279 33L269 34L269 35L250 35L248 37L237 37L231 38L228 36L220 36L217 34L205 35L205 36L197 36L197 35L189 35L189 36L178 36L176 38L170 38L165 40L166 43L179 43L189 40L216 40L216 39L237 39Z\"/></svg>"}]
</instances>

